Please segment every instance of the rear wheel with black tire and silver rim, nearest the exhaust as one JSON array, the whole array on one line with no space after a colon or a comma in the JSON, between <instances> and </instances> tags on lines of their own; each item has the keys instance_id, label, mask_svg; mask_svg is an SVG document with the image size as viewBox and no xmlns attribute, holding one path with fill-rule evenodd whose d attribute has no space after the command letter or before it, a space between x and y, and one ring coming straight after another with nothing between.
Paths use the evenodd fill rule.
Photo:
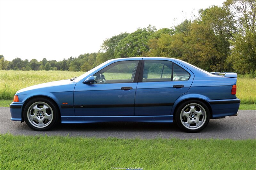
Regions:
<instances>
[{"instance_id":1,"label":"rear wheel with black tire and silver rim, nearest the exhaust","mask_svg":"<svg viewBox=\"0 0 256 170\"><path fill-rule=\"evenodd\" d=\"M189 100L181 103L175 112L178 126L187 132L202 131L210 120L210 110L201 101Z\"/></svg>"}]
</instances>

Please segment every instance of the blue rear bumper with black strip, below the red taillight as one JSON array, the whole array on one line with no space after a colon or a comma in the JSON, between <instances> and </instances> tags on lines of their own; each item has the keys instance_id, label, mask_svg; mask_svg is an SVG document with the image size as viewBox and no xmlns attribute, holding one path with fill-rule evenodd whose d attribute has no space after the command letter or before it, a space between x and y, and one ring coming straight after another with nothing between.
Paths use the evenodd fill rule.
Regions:
<instances>
[{"instance_id":1,"label":"blue rear bumper with black strip, below the red taillight","mask_svg":"<svg viewBox=\"0 0 256 170\"><path fill-rule=\"evenodd\" d=\"M236 115L240 99L207 100L212 108L212 118Z\"/></svg>"}]
</instances>

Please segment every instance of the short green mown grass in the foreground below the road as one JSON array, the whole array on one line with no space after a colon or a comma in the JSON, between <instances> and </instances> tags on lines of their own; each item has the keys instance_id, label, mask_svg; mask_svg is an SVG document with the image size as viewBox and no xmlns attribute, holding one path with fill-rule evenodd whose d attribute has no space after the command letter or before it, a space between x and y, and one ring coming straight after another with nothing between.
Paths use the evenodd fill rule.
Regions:
<instances>
[{"instance_id":1,"label":"short green mown grass in the foreground below the road","mask_svg":"<svg viewBox=\"0 0 256 170\"><path fill-rule=\"evenodd\" d=\"M255 169L256 140L0 135L0 169Z\"/></svg>"}]
</instances>

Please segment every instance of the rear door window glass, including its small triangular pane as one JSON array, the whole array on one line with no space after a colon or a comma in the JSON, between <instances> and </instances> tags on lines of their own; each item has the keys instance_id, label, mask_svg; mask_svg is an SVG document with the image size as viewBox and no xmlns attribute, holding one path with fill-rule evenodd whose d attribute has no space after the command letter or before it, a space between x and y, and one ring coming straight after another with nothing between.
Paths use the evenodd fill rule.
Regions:
<instances>
[{"instance_id":1,"label":"rear door window glass, including its small triangular pane","mask_svg":"<svg viewBox=\"0 0 256 170\"><path fill-rule=\"evenodd\" d=\"M145 60L142 82L186 81L190 74L180 66L166 60Z\"/></svg>"}]
</instances>

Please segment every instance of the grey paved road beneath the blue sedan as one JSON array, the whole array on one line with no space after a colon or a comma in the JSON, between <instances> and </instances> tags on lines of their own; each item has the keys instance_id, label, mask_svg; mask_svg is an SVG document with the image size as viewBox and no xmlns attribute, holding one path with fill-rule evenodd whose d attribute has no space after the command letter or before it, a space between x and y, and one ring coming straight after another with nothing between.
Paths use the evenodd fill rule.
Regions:
<instances>
[{"instance_id":1,"label":"grey paved road beneath the blue sedan","mask_svg":"<svg viewBox=\"0 0 256 170\"><path fill-rule=\"evenodd\" d=\"M86 136L97 138L256 138L256 110L240 110L236 117L211 119L208 126L199 133L186 133L176 124L157 123L95 123L95 124L60 124L52 131L33 131L25 122L10 120L9 108L0 108L0 133L15 135L63 135Z\"/></svg>"}]
</instances>

